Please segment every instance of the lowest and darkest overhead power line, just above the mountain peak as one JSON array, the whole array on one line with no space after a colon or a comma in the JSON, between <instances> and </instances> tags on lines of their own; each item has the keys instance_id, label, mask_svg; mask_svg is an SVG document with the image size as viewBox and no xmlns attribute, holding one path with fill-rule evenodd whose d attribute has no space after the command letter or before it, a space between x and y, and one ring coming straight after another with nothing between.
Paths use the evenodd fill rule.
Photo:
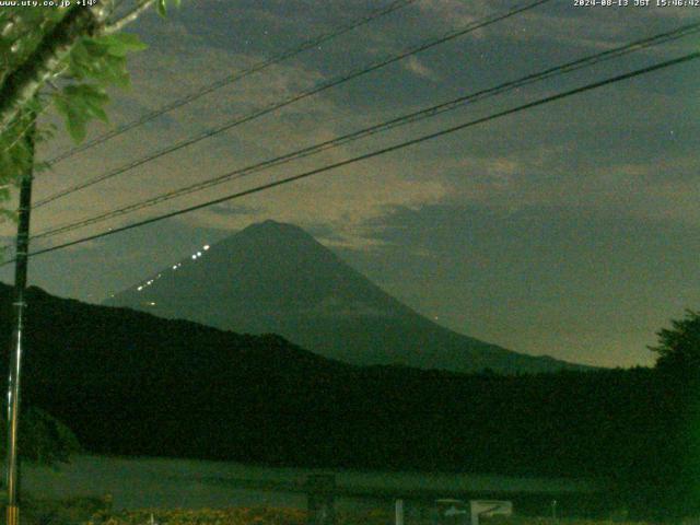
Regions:
<instances>
[{"instance_id":1,"label":"lowest and darkest overhead power line, just above the mountain peak","mask_svg":"<svg viewBox=\"0 0 700 525\"><path fill-rule=\"evenodd\" d=\"M124 226L120 226L120 228L110 229L108 231L101 232L101 233L97 233L97 234L94 234L94 235L89 235L89 236L85 236L85 237L82 237L82 238L79 238L79 240L75 240L75 241L70 241L70 242L67 242L67 243L63 243L63 244L59 244L59 245L51 246L51 247L48 247L48 248L39 249L39 250L33 252L30 255L31 256L37 256L37 255L42 255L42 254L48 254L48 253L51 253L51 252L56 252L56 250L59 250L59 249L67 248L69 246L75 246L78 244L86 243L89 241L94 241L94 240L97 240L97 238L106 237L108 235L114 235L116 233L125 232L127 230L133 230L136 228L141 228L141 226L144 226L147 224L152 224L152 223L155 223L155 222L159 222L159 221L163 221L165 219L171 219L173 217L178 217L178 215L183 215L185 213L189 213L189 212L192 212L192 211L201 210L201 209L208 208L210 206L219 205L219 203L226 202L226 201L230 201L230 200L233 200L233 199L237 199L237 198L245 197L245 196L248 196L248 195L253 195L253 194L257 194L257 192L260 192L260 191L265 191L265 190L278 187L278 186L282 186L282 185L290 184L290 183L293 183L293 182L296 182L296 180L301 180L303 178L311 177L313 175L317 175L319 173L325 173L325 172L329 172L331 170L337 170L337 168L342 167L342 166L347 166L347 165L350 165L350 164L354 164L357 162L365 161L368 159L373 159L373 158L378 156L378 155L390 153L393 151L398 151L398 150L401 150L404 148L408 148L410 145L419 144L419 143L422 143L422 142L425 142L425 141L429 141L429 140L432 140L432 139L436 139L439 137L443 137L443 136L446 136L446 135L450 135L450 133L454 133L454 132L463 130L463 129L467 129L467 128L470 128L470 127L474 127L474 126L478 126L480 124L485 124L485 122L488 122L488 121L491 121L491 120L495 120L497 118L501 118L501 117L504 117L504 116L508 116L508 115L513 115L515 113L524 112L524 110L527 110L527 109L530 109L530 108L534 108L534 107L537 107L537 106L541 106L544 104L549 104L549 103L555 102L555 101L560 101L562 98L567 98L567 97L572 96L572 95L576 95L576 94L584 93L584 92L587 92L587 91L596 90L596 89L603 88L605 85L614 84L616 82L620 82L620 81L623 81L623 80L632 79L634 77L639 77L639 75L642 75L642 74L648 74L648 73L651 73L652 71L658 71L661 69L665 69L665 68L668 68L668 67L672 67L672 66L676 66L676 65L679 65L679 63L688 62L690 60L696 60L698 58L700 58L700 52L698 52L698 51L691 52L691 54L687 54L687 55L684 55L684 56L681 56L679 58L675 58L675 59L672 59L672 60L665 60L663 62L657 62L657 63L655 63L653 66L648 66L645 68L637 69L637 70L628 72L628 73L618 74L616 77L611 77L611 78L608 78L608 79L605 79L605 80L602 80L602 81L598 81L598 82L593 82L593 83L583 85L581 88L575 88L573 90L568 90L568 91L564 91L564 92L560 92L560 93L558 93L556 95L550 95L550 96L546 96L544 98L538 98L538 100L536 100L534 102L522 104L520 106L516 106L516 107L513 107L513 108L510 108L510 109L505 109L505 110L502 110L502 112L499 112L499 113L494 113L494 114L491 114L491 115L486 116L486 117L481 117L481 118L477 118L477 119L474 119L474 120L469 120L467 122L463 122L463 124L459 124L457 126L452 126L450 128L445 128L445 129L442 129L440 131L435 131L433 133L423 135L423 136L418 137L416 139L407 140L407 141L400 142L398 144L389 145L387 148L375 150L375 151L372 151L370 153L358 155L358 156L354 156L354 158L351 158L351 159L348 159L348 160L345 160L345 161L336 162L334 164L329 164L329 165L326 165L326 166L323 166L323 167L318 167L318 168L315 168L315 170L303 172L303 173L298 174L298 175L293 175L293 176L285 177L285 178L279 179L279 180L275 180L275 182L271 182L271 183L262 184L262 185L256 186L254 188L245 189L245 190L242 190L242 191L236 191L234 194L226 195L224 197L212 199L212 200L209 200L209 201L196 205L196 206L190 206L188 208L184 208L184 209L180 209L180 210L163 213L161 215L152 217L150 219L145 219L145 220L142 220L142 221L139 221L139 222L127 224L127 225L124 225ZM10 262L12 262L12 260L9 260L5 264L10 264Z\"/></svg>"}]
</instances>

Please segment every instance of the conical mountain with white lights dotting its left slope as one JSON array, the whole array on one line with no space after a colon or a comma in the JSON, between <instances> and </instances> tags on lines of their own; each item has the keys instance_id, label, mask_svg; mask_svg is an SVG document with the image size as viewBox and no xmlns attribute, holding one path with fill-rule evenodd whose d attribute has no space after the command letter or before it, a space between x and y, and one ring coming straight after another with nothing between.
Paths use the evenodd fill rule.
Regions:
<instances>
[{"instance_id":1,"label":"conical mountain with white lights dotting its left slope","mask_svg":"<svg viewBox=\"0 0 700 525\"><path fill-rule=\"evenodd\" d=\"M220 329L279 334L351 364L453 372L581 365L513 352L444 328L392 298L302 229L253 224L104 303Z\"/></svg>"}]
</instances>

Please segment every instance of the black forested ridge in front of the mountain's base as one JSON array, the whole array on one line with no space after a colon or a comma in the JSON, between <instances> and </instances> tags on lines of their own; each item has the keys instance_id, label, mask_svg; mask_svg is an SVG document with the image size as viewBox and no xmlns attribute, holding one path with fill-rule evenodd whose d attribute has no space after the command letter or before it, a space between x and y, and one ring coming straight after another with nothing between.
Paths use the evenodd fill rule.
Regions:
<instances>
[{"instance_id":1,"label":"black forested ridge in front of the mountain's base","mask_svg":"<svg viewBox=\"0 0 700 525\"><path fill-rule=\"evenodd\" d=\"M10 301L1 291L7 339ZM631 509L696 508L696 390L670 369L514 376L361 369L277 336L37 289L30 304L23 402L65 421L91 452L593 477Z\"/></svg>"}]
</instances>

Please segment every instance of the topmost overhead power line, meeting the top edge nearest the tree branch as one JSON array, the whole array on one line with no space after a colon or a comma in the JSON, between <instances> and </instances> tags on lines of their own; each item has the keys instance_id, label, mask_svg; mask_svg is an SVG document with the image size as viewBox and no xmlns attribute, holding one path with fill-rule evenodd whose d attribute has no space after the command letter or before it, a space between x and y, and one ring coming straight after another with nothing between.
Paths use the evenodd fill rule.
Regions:
<instances>
[{"instance_id":1,"label":"topmost overhead power line, meeting the top edge nearest the tree branch","mask_svg":"<svg viewBox=\"0 0 700 525\"><path fill-rule=\"evenodd\" d=\"M226 77L223 77L222 79L219 79L210 84L203 85L201 88L199 88L196 92L194 93L189 93L188 95L183 96L182 98L177 98L173 102L170 102L167 104L164 104L163 106L159 107L158 109L153 109L152 112L149 112L142 116L140 116L139 118L131 120L130 122L126 122L122 124L118 127L116 127L115 129L113 129L112 131L108 131L104 135L101 135L100 137L95 137L92 140L89 140L88 142L78 145L75 148L72 148L70 150L65 151L63 153L60 153L58 155L56 155L55 158L50 159L48 161L49 165L54 165L57 164L61 161L65 161L66 159L69 159L78 153L81 153L85 150L89 150L91 148L94 148L97 144L102 144L103 142L106 142L109 139L113 139L115 137L118 137L131 129L138 128L139 126L142 126L151 120L153 120L154 118L160 117L161 115L165 115L166 113L170 113L174 109L177 109L178 107L182 107L186 104L189 104L191 102L197 101L198 98L201 98L202 96L206 96L210 93L213 93L217 90L220 90L222 88L225 88L226 85L230 85L234 82L237 82L238 80L245 79L246 77L249 77L253 73L257 73L259 71L262 71L264 69L269 68L270 66L275 66L276 63L280 63L284 60L288 60L292 57L295 57L296 55L301 55L302 52L312 49L314 47L317 47L328 40L331 40L334 38L337 38L341 35L345 35L346 33L349 33L352 30L355 30L358 27L361 27L362 25L369 24L370 22L380 19L382 16L385 16L387 14L390 14L395 11L398 11L399 9L402 9L407 5L410 5L411 3L415 3L417 0L396 0L392 3L389 3L388 5L382 8L382 9L377 9L376 11L372 11L371 13L361 16L359 19L355 19L347 24L340 25L336 28L334 28L332 31L328 32L328 33L324 33L320 34L318 36L315 36L313 38L310 38L307 40L304 40L302 44L300 44L296 47L290 48L285 51L282 51L278 55L275 55L266 60L261 60L259 62L254 63L253 66L250 66L249 68L243 69L241 71L237 71L235 73L229 74Z\"/></svg>"}]
</instances>

